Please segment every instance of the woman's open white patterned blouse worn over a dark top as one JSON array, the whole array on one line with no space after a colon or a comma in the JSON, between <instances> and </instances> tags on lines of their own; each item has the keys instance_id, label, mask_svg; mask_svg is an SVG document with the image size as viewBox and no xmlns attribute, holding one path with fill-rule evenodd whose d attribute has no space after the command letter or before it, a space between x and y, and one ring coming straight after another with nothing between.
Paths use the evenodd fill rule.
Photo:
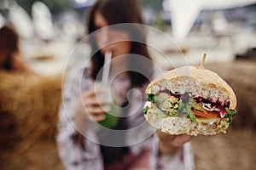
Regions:
<instances>
[{"instance_id":1,"label":"woman's open white patterned blouse worn over a dark top","mask_svg":"<svg viewBox=\"0 0 256 170\"><path fill-rule=\"evenodd\" d=\"M75 139L77 130L73 119L81 99L81 93L86 89L94 87L94 81L89 75L90 68L80 68L76 71L71 71L62 88L62 103L59 111L56 142L63 166L69 170L104 169L104 160L98 137L99 126L97 123L87 122L90 126L84 129L84 149ZM112 87L119 101L125 101L128 96L130 107L125 113L127 129L120 132L123 134L123 144L129 148L131 154L137 156L143 150L150 150L150 160L148 161L150 169L194 169L190 143L184 144L183 149L177 152L175 156L160 156L158 154L159 139L155 134L156 129L149 126L143 116L143 105L147 99L144 89L147 85L145 84L142 88L131 88L129 79L115 77ZM110 143L112 138L119 137L107 135L104 144L108 145L108 139L109 144L112 144ZM115 145L119 146L119 142Z\"/></svg>"}]
</instances>

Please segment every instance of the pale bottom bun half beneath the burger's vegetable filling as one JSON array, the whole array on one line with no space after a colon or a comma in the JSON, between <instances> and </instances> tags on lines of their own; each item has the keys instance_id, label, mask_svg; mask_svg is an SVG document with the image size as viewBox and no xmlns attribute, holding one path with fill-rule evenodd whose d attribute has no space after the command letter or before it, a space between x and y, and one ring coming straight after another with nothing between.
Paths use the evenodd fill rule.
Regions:
<instances>
[{"instance_id":1,"label":"pale bottom bun half beneath the burger's vegetable filling","mask_svg":"<svg viewBox=\"0 0 256 170\"><path fill-rule=\"evenodd\" d=\"M150 110L144 116L151 126L170 134L213 135L226 133L226 129L229 127L228 118L200 118L191 122L186 117L166 117L154 114Z\"/></svg>"}]
</instances>

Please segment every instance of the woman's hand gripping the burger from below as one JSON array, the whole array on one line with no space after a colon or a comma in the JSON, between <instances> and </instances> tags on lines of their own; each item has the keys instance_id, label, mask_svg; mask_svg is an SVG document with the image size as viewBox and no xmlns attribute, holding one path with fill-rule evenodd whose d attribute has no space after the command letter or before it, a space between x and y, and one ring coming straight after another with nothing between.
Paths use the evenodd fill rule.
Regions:
<instances>
[{"instance_id":1,"label":"woman's hand gripping the burger from below","mask_svg":"<svg viewBox=\"0 0 256 170\"><path fill-rule=\"evenodd\" d=\"M159 151L161 154L174 155L177 150L180 150L184 143L192 139L192 136L187 134L171 135L157 131L159 141Z\"/></svg>"}]
</instances>

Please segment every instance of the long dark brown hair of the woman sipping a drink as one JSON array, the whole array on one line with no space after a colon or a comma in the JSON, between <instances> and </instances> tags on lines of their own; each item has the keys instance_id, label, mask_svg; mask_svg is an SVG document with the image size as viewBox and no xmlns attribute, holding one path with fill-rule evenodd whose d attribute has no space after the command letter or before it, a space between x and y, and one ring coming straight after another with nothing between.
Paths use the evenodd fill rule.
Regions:
<instances>
[{"instance_id":1,"label":"long dark brown hair of the woman sipping a drink","mask_svg":"<svg viewBox=\"0 0 256 170\"><path fill-rule=\"evenodd\" d=\"M144 24L141 8L137 0L125 0L121 2L120 0L98 0L90 10L88 20L89 34L97 30L94 23L96 11L104 16L108 21L109 26L117 26L123 23ZM141 87L145 82L148 82L148 78L153 75L153 64L148 53L147 45L145 44L147 31L143 29L143 26L129 26L128 28L123 29L129 33L131 40L138 40L131 41L130 54L138 54L150 59L150 62L145 63L141 59L132 60L130 59L132 57L129 57L129 68L139 68L140 72L142 72L139 73L133 69L128 71L128 75L131 78L131 84L134 87ZM94 37L90 37L90 45L92 52L96 52L96 54L92 54L92 57L90 58L92 62L91 77L96 80L96 77L101 77L99 71L104 65L104 57L100 53L100 49L97 47Z\"/></svg>"}]
</instances>

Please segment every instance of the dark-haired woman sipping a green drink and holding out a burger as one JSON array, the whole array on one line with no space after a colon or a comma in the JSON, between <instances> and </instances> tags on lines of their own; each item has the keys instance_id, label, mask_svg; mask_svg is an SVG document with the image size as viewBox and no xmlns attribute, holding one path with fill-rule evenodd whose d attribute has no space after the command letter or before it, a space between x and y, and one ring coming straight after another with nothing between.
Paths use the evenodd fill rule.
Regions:
<instances>
[{"instance_id":1,"label":"dark-haired woman sipping a green drink and holding out a burger","mask_svg":"<svg viewBox=\"0 0 256 170\"><path fill-rule=\"evenodd\" d=\"M154 129L143 117L146 99L141 95L154 77L154 69L143 43L145 31L137 24L143 24L143 19L136 0L100 0L90 12L90 66L67 80L60 110L57 142L67 169L193 168L183 159L190 154L183 147L190 137L151 135ZM112 54L111 87L121 111L117 125L104 128L97 123L108 117L109 108L101 107L108 101L97 99L104 90L95 90L94 84L102 78L107 52Z\"/></svg>"}]
</instances>

